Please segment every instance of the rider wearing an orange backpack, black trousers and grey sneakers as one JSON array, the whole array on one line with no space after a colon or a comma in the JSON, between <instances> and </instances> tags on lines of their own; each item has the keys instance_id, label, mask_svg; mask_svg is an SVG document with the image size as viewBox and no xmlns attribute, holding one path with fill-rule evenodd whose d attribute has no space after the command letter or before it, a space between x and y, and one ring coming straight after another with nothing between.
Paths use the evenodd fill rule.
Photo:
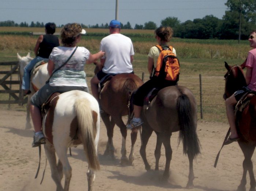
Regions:
<instances>
[{"instance_id":1,"label":"rider wearing an orange backpack, black trousers and grey sneakers","mask_svg":"<svg viewBox=\"0 0 256 191\"><path fill-rule=\"evenodd\" d=\"M153 88L159 91L164 87L177 85L179 80L179 61L176 57L176 50L167 44L172 34L171 27L159 27L155 30L155 38L158 44L151 47L148 54L148 71L151 78L134 93L134 117L126 126L127 129L143 124L140 114L144 98ZM154 72L153 69L155 69Z\"/></svg>"}]
</instances>

